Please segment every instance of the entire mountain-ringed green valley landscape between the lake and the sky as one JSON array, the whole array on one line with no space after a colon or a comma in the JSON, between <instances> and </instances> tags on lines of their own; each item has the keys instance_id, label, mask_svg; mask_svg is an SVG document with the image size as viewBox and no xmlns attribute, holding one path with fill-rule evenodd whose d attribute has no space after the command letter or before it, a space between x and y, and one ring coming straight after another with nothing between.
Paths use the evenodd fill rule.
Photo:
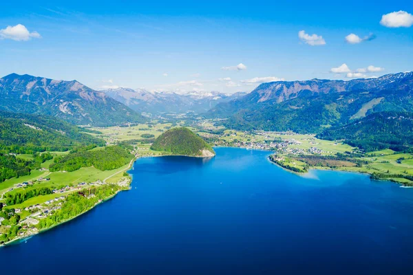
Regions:
<instances>
[{"instance_id":1,"label":"entire mountain-ringed green valley landscape between the lake and the sky","mask_svg":"<svg viewBox=\"0 0 413 275\"><path fill-rule=\"evenodd\" d=\"M16 80L10 80L12 77ZM132 179L127 171L136 159L213 157L211 146L268 151L270 162L304 176L312 169L342 170L413 186L412 110L409 102L403 111L389 107L390 99L379 86L389 77L366 80L365 86L360 86L361 80L357 85L311 80L320 87L301 83L304 86L300 89L313 89L312 94L302 95L293 91L283 94L285 89L279 94L279 85L290 84L270 83L233 98L131 89L102 93L76 82L18 75L2 78L0 92L6 93L6 98L10 90L30 94L32 87L39 85L36 93L47 94L43 104L55 104L55 98L48 98L50 89L68 89L67 93L79 96L82 104L100 96L105 104L112 102L112 97L120 101L114 104L120 105L109 107L109 113L107 106L98 107L99 119L82 115L78 120L85 111L82 104L75 104L72 111L59 107L57 113L41 109L19 113L3 102L7 106L0 106L4 110L0 111L0 242L8 244L53 228L129 190ZM410 74L399 77L412 78ZM17 87L11 88L10 83L17 83ZM365 92L366 87L381 97ZM57 98L64 101L60 94ZM246 100L248 104L244 104ZM24 104L32 104L28 102L31 100ZM347 113L342 113L344 110ZM316 119L304 118L301 111L310 111ZM103 119L109 117L116 119L106 123Z\"/></svg>"}]
</instances>

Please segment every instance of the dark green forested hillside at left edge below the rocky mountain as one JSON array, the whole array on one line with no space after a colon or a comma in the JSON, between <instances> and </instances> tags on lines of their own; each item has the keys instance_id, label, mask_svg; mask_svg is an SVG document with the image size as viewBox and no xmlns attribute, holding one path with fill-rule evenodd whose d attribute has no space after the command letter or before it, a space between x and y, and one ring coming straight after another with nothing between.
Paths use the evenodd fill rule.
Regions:
<instances>
[{"instance_id":1,"label":"dark green forested hillside at left edge below the rocky mountain","mask_svg":"<svg viewBox=\"0 0 413 275\"><path fill-rule=\"evenodd\" d=\"M12 177L30 175L46 160L44 151L68 151L81 146L105 145L100 140L74 126L45 115L28 115L0 111L0 182ZM23 159L19 154L31 154Z\"/></svg>"}]
</instances>

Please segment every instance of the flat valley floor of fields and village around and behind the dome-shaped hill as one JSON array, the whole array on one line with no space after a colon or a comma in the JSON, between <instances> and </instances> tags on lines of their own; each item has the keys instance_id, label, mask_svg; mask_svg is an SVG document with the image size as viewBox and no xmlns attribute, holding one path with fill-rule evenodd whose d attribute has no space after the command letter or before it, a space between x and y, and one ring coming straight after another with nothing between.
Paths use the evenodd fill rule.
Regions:
<instances>
[{"instance_id":1,"label":"flat valley floor of fields and village around and behind the dome-shaped hill","mask_svg":"<svg viewBox=\"0 0 413 275\"><path fill-rule=\"evenodd\" d=\"M220 120L198 120L196 122L180 121L177 123L161 123L156 120L153 124L140 124L131 127L94 128L103 135L97 135L107 142L136 143L140 154L146 156L162 155L150 149L142 141L142 135L151 134L158 137L163 131L171 129L173 125L186 125L210 142L214 146L229 146L257 150L273 151L279 158L279 165L296 172L306 173L310 169L345 170L357 173L368 173L379 177L405 184L413 185L412 153L383 149L360 151L359 148L343 143L343 141L323 140L315 134L298 134L291 131L240 131L226 129L220 126ZM96 135L96 134L93 134Z\"/></svg>"}]
</instances>

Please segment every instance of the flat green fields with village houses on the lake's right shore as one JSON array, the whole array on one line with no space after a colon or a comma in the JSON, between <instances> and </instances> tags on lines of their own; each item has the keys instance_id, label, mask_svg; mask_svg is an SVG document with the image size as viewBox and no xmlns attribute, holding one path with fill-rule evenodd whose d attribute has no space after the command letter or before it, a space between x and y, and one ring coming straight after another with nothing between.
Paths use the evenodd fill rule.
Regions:
<instances>
[{"instance_id":1,"label":"flat green fields with village houses on the lake's right shore","mask_svg":"<svg viewBox=\"0 0 413 275\"><path fill-rule=\"evenodd\" d=\"M314 135L273 132L248 133L225 130L224 134L219 138L225 142L247 143L262 143L277 139L282 140L285 146L277 149L277 155L284 157L282 163L285 166L291 166L301 170L308 164L310 168L318 169L333 168L369 174L382 173L387 175L413 176L413 154L397 153L390 149L370 152L363 157L350 157L349 155L348 159L350 161L347 161L345 159L323 159L323 157L335 157L337 153L344 155L355 153L359 155L357 148L343 144L342 142L319 140ZM321 158L303 162L303 159L301 159L299 155L315 155ZM359 165L357 165L357 163L359 163ZM392 178L392 180L408 185L413 184L413 181L403 177Z\"/></svg>"}]
</instances>

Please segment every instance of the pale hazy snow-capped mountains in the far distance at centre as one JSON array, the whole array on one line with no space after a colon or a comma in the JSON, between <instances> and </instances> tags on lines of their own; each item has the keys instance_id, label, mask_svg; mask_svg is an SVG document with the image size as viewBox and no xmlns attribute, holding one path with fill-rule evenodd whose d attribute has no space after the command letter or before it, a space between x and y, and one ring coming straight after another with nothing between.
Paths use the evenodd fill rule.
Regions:
<instances>
[{"instance_id":1,"label":"pale hazy snow-capped mountains in the far distance at centre","mask_svg":"<svg viewBox=\"0 0 413 275\"><path fill-rule=\"evenodd\" d=\"M151 92L145 89L129 88L108 89L103 92L135 111L148 113L186 113L188 111L204 113L220 102L228 102L246 94L227 95L217 91L176 94L167 91Z\"/></svg>"}]
</instances>

